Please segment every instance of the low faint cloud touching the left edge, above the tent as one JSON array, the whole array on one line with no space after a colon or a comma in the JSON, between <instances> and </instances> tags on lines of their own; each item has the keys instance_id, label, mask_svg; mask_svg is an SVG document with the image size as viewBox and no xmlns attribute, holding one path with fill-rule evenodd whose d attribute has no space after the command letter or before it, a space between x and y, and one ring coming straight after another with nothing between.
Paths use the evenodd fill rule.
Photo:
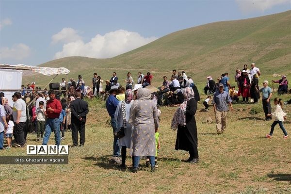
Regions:
<instances>
[{"instance_id":1,"label":"low faint cloud touching the left edge, above the tent","mask_svg":"<svg viewBox=\"0 0 291 194\"><path fill-rule=\"evenodd\" d=\"M12 48L1 47L0 48L0 60L3 59L15 59L22 60L29 57L31 54L31 49L29 46L19 43L13 45Z\"/></svg>"}]
</instances>

